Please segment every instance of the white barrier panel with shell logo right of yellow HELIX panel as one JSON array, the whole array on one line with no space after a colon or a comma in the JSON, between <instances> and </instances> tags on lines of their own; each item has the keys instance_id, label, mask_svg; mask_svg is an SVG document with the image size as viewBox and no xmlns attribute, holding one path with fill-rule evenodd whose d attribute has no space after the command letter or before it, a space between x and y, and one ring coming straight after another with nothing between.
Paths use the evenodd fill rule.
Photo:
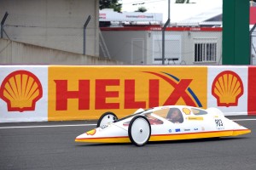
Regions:
<instances>
[{"instance_id":1,"label":"white barrier panel with shell logo right of yellow HELIX panel","mask_svg":"<svg viewBox=\"0 0 256 170\"><path fill-rule=\"evenodd\" d=\"M225 115L247 115L247 79L247 66L208 66L207 106Z\"/></svg>"}]
</instances>

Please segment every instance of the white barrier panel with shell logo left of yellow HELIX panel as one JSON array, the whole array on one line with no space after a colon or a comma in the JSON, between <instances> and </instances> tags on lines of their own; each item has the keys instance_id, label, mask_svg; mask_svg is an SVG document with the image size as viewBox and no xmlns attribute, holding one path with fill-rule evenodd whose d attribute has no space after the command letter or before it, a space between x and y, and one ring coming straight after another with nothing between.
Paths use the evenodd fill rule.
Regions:
<instances>
[{"instance_id":1,"label":"white barrier panel with shell logo left of yellow HELIX panel","mask_svg":"<svg viewBox=\"0 0 256 170\"><path fill-rule=\"evenodd\" d=\"M48 66L1 66L0 82L0 122L48 121Z\"/></svg>"}]
</instances>

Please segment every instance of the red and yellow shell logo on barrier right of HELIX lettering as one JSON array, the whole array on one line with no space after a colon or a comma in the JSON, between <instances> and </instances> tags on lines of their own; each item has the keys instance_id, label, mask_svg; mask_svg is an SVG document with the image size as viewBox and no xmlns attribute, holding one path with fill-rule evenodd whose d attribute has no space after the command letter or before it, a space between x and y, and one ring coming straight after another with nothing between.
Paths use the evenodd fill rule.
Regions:
<instances>
[{"instance_id":1,"label":"red and yellow shell logo on barrier right of HELIX lettering","mask_svg":"<svg viewBox=\"0 0 256 170\"><path fill-rule=\"evenodd\" d=\"M236 106L243 94L241 78L234 71L223 71L212 82L212 95L218 106Z\"/></svg>"}]
</instances>

